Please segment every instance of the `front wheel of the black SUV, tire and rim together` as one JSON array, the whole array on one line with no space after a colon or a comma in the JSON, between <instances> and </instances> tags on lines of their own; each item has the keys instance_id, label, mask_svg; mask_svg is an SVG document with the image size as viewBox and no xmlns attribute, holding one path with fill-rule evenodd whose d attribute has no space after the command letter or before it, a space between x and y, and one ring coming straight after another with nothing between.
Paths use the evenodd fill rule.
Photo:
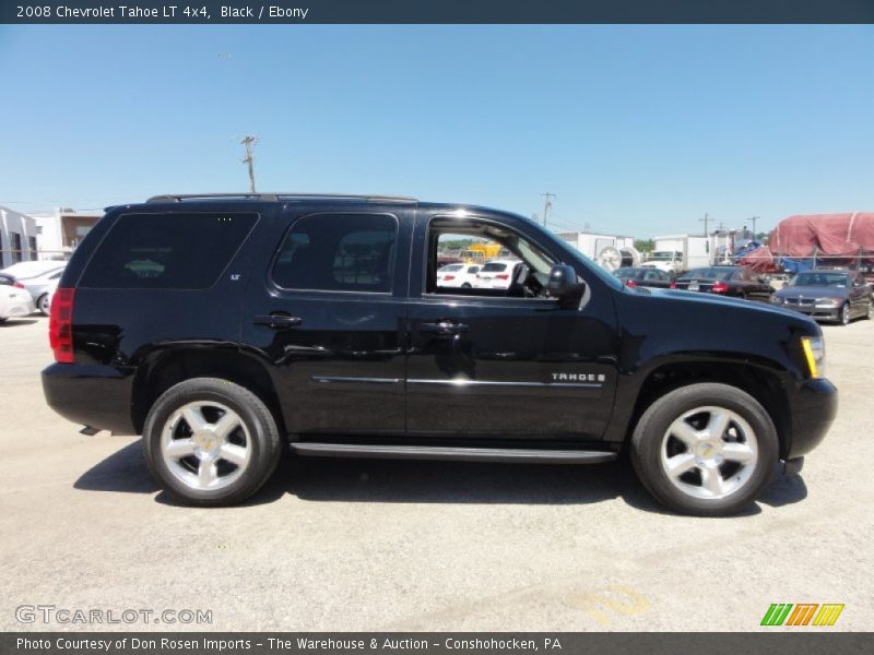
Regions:
<instances>
[{"instance_id":1,"label":"front wheel of the black SUV, tire and rim together","mask_svg":"<svg viewBox=\"0 0 874 655\"><path fill-rule=\"evenodd\" d=\"M643 486L683 514L728 516L771 481L777 431L768 413L735 386L698 383L650 405L631 437L631 463Z\"/></svg>"}]
</instances>

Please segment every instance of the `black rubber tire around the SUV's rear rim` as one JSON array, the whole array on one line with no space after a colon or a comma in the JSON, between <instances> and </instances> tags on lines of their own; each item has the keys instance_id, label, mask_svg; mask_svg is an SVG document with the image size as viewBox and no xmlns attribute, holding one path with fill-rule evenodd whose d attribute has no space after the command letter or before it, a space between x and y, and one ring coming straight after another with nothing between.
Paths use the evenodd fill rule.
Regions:
<instances>
[{"instance_id":1,"label":"black rubber tire around the SUV's rear rim","mask_svg":"<svg viewBox=\"0 0 874 655\"><path fill-rule=\"evenodd\" d=\"M162 439L166 424L190 403L215 403L232 409L240 420L238 429L246 431L245 445L251 449L250 454L245 466L232 467L235 473L236 468L240 471L227 486L193 488L170 471L173 460L165 460ZM215 507L241 502L258 491L276 468L282 440L270 409L251 391L217 378L193 378L172 386L152 405L143 428L143 448L149 469L164 490L187 504Z\"/></svg>"}]
</instances>

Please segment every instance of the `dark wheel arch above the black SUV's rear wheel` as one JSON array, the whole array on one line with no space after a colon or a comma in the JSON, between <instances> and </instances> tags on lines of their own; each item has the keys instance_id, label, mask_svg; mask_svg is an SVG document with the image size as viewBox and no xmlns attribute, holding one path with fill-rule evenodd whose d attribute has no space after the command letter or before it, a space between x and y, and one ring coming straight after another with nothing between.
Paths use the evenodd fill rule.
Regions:
<instances>
[{"instance_id":1,"label":"dark wheel arch above the black SUV's rear wheel","mask_svg":"<svg viewBox=\"0 0 874 655\"><path fill-rule=\"evenodd\" d=\"M268 406L281 433L285 420L267 367L236 347L174 346L152 353L139 367L131 394L131 421L138 433L155 401L174 384L191 378L218 378L239 384Z\"/></svg>"}]
</instances>

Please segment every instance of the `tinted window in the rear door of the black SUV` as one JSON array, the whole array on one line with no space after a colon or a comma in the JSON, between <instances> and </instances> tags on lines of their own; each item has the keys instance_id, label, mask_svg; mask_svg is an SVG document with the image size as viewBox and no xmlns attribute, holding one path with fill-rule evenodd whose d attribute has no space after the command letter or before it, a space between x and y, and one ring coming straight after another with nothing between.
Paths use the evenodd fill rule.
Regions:
<instances>
[{"instance_id":1,"label":"tinted window in the rear door of the black SUV","mask_svg":"<svg viewBox=\"0 0 874 655\"><path fill-rule=\"evenodd\" d=\"M398 219L388 214L317 214L297 221L273 265L286 289L390 293Z\"/></svg>"}]
</instances>

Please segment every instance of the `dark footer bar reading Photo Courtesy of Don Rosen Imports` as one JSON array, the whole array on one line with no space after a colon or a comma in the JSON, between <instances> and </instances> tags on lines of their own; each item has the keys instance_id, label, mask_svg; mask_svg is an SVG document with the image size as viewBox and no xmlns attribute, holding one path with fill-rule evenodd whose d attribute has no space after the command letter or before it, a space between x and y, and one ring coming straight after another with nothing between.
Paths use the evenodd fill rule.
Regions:
<instances>
[{"instance_id":1,"label":"dark footer bar reading Photo Courtesy of Don Rosen Imports","mask_svg":"<svg viewBox=\"0 0 874 655\"><path fill-rule=\"evenodd\" d=\"M7 632L2 655L845 655L870 632Z\"/></svg>"}]
</instances>

